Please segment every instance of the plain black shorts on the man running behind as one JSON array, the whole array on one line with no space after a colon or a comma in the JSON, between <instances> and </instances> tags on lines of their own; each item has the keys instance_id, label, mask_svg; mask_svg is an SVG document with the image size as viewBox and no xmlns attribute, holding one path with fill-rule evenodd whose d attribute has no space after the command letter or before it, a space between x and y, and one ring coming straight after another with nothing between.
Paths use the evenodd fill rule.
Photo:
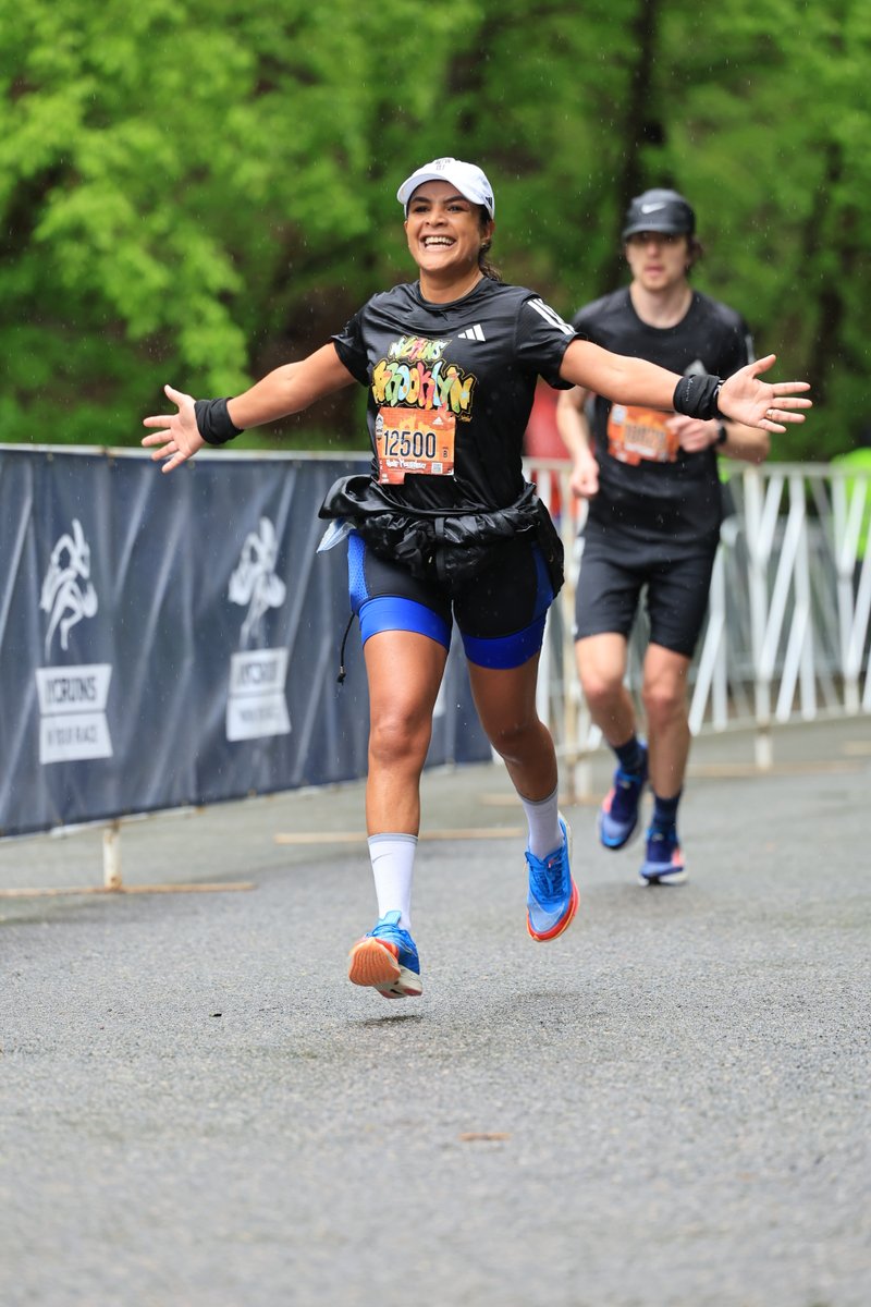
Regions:
<instances>
[{"instance_id":1,"label":"plain black shorts on the man running behind","mask_svg":"<svg viewBox=\"0 0 871 1307\"><path fill-rule=\"evenodd\" d=\"M614 549L595 537L584 544L575 593L575 639L605 634L628 639L646 586L650 643L692 657L708 612L716 544L678 558L644 544L622 559L612 554Z\"/></svg>"}]
</instances>

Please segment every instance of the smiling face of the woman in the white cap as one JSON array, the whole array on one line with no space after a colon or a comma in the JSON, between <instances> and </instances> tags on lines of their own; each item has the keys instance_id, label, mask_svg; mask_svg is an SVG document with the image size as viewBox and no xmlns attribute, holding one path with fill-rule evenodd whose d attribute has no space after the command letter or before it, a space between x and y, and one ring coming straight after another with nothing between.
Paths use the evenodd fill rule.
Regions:
<instances>
[{"instance_id":1,"label":"smiling face of the woman in the white cap","mask_svg":"<svg viewBox=\"0 0 871 1307\"><path fill-rule=\"evenodd\" d=\"M462 278L478 267L494 223L451 182L424 182L409 200L405 234L411 257L427 277Z\"/></svg>"}]
</instances>

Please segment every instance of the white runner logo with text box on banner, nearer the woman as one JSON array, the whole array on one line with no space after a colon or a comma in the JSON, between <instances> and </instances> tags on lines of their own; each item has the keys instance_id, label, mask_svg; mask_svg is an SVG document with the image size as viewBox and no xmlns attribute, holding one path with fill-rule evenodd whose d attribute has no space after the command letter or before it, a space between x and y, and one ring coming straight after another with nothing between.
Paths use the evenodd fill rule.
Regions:
<instances>
[{"instance_id":1,"label":"white runner logo with text box on banner, nearer the woman","mask_svg":"<svg viewBox=\"0 0 871 1307\"><path fill-rule=\"evenodd\" d=\"M239 633L240 654L230 659L227 740L257 740L289 735L290 714L285 698L287 650L251 650L262 631L270 608L281 608L287 587L276 574L278 537L269 518L260 519L260 532L251 532L230 576L229 599L247 606Z\"/></svg>"}]
</instances>

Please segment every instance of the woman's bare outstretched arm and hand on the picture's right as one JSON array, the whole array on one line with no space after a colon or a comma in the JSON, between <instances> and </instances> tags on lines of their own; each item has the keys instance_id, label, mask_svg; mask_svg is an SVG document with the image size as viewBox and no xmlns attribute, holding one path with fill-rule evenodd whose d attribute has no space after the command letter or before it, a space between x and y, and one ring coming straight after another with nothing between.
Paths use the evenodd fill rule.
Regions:
<instances>
[{"instance_id":1,"label":"woman's bare outstretched arm and hand on the picture's right","mask_svg":"<svg viewBox=\"0 0 871 1307\"><path fill-rule=\"evenodd\" d=\"M807 382L777 382L769 384L759 379L774 363L774 354L759 358L739 369L722 383L714 412L697 410L689 417L723 417L764 431L784 431L787 422L803 422L799 409L811 408L811 400L797 396L810 389ZM611 354L586 340L573 340L560 367L560 376L575 386L595 391L618 404L644 404L670 412L678 406L675 389L684 378L669 372L642 358ZM704 380L704 379L703 379ZM682 409L682 412L687 412Z\"/></svg>"}]
</instances>

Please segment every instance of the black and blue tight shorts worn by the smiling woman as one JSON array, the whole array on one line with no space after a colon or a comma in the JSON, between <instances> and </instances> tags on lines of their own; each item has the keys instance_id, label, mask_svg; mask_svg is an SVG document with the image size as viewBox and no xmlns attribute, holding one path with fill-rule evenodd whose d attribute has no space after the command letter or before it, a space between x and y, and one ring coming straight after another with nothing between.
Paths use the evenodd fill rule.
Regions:
<instances>
[{"instance_id":1,"label":"black and blue tight shorts worn by the smiling woman","mask_svg":"<svg viewBox=\"0 0 871 1307\"><path fill-rule=\"evenodd\" d=\"M554 601L543 554L524 537L500 545L498 561L453 603L437 582L419 580L406 567L379 558L356 532L347 540L347 575L363 643L377 631L401 630L449 648L456 618L466 657L479 667L520 667L538 654Z\"/></svg>"}]
</instances>

